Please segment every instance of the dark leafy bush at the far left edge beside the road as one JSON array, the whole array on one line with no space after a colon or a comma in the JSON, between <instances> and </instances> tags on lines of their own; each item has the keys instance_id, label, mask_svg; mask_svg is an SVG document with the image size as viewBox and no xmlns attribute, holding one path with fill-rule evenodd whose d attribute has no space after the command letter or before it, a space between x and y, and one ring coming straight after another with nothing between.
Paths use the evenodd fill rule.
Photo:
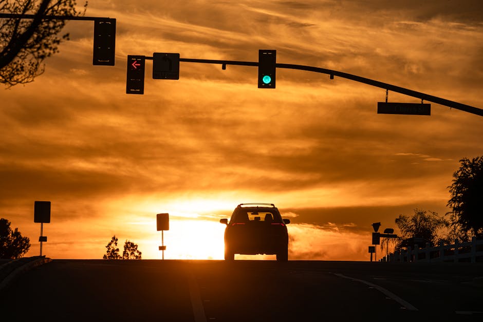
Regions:
<instances>
[{"instance_id":1,"label":"dark leafy bush at the far left edge beside the road","mask_svg":"<svg viewBox=\"0 0 483 322\"><path fill-rule=\"evenodd\" d=\"M0 258L20 258L28 252L30 239L22 237L22 234L15 228L10 228L10 221L0 219Z\"/></svg>"}]
</instances>

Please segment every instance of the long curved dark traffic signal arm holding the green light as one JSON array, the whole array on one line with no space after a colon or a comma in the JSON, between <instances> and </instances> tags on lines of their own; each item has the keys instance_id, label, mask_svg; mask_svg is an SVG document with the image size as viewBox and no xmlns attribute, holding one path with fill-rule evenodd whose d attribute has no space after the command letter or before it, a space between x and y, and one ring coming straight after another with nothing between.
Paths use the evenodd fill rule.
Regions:
<instances>
[{"instance_id":1,"label":"long curved dark traffic signal arm holding the green light","mask_svg":"<svg viewBox=\"0 0 483 322\"><path fill-rule=\"evenodd\" d=\"M148 57L146 56L146 60L153 60L153 57ZM258 66L258 62L241 62L241 61L222 61L222 60L210 60L210 59L190 59L190 58L180 58L180 62L187 62L187 63L201 63L201 64L219 64L221 65L222 69L226 69L227 65L239 65L239 66ZM426 93L418 92L415 90L371 80L368 78L360 77L357 75L345 73L342 71L337 71L337 70L331 70L331 69L326 69L326 68L320 68L320 67L313 67L313 66L304 66L304 65L293 65L293 64L280 64L276 63L276 68L287 68L287 69L298 69L298 70L305 70L305 71L311 71L311 72L318 72L322 74L328 74L330 75L330 79L333 79L333 77L337 76L340 78L345 78L351 81L356 81L359 83L364 83L367 85L383 88L386 90L391 90L397 93L401 93L407 96L415 97L424 101L428 102L433 102L436 104L448 106L451 108L459 109L468 113L472 113L475 115L483 116L483 109L477 108L474 106L446 100L440 97L432 96Z\"/></svg>"}]
</instances>

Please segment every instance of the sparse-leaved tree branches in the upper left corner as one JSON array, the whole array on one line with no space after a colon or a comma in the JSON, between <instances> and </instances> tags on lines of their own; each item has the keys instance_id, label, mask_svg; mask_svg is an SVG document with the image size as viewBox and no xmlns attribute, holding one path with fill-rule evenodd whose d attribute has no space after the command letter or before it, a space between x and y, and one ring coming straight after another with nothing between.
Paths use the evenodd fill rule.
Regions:
<instances>
[{"instance_id":1,"label":"sparse-leaved tree branches in the upper left corner","mask_svg":"<svg viewBox=\"0 0 483 322\"><path fill-rule=\"evenodd\" d=\"M0 0L1 13L34 14L33 19L0 18L0 83L7 87L33 82L44 72L43 61L59 52L59 44L69 34L58 34L65 20L45 15L77 16L76 0Z\"/></svg>"}]
</instances>

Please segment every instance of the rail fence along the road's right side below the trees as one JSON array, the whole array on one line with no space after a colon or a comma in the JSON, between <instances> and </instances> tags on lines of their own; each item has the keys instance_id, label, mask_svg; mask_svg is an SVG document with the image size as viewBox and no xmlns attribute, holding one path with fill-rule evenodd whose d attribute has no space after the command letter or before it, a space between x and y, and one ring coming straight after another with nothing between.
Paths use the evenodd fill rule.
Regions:
<instances>
[{"instance_id":1,"label":"rail fence along the road's right side below the trees","mask_svg":"<svg viewBox=\"0 0 483 322\"><path fill-rule=\"evenodd\" d=\"M396 251L381 258L379 261L391 262L483 262L483 240L459 243L457 240L452 245L444 245L442 242L436 247L430 247L426 243L425 248L415 245L414 250Z\"/></svg>"}]
</instances>

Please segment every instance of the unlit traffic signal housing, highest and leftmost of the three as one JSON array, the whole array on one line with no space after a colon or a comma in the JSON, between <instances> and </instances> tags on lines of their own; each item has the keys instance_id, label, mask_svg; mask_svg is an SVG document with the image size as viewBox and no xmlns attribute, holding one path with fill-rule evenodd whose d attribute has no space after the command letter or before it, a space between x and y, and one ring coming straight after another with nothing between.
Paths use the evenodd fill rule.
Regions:
<instances>
[{"instance_id":1,"label":"unlit traffic signal housing, highest and leftmost of the three","mask_svg":"<svg viewBox=\"0 0 483 322\"><path fill-rule=\"evenodd\" d=\"M94 21L92 65L114 66L116 51L116 19Z\"/></svg>"}]
</instances>

